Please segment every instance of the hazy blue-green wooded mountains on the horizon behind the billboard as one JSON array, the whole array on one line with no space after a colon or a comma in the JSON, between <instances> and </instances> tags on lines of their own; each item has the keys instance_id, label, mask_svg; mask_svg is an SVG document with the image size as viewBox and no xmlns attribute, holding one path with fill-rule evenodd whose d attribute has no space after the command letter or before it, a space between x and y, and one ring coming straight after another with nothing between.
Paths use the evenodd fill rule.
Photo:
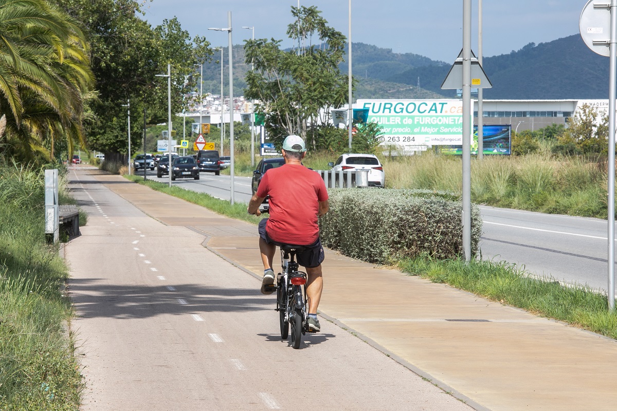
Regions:
<instances>
[{"instance_id":1,"label":"hazy blue-green wooded mountains on the horizon behind the billboard","mask_svg":"<svg viewBox=\"0 0 617 411\"><path fill-rule=\"evenodd\" d=\"M354 43L352 52L354 99L456 97L455 90L440 88L456 56L446 63L363 43ZM242 46L234 46L234 53L234 88L242 89L251 67L244 62ZM339 68L347 73L347 62ZM609 59L592 52L578 34L484 57L482 68L493 84L484 89L484 99L608 99ZM220 92L218 60L204 64L204 92L209 90Z\"/></svg>"}]
</instances>

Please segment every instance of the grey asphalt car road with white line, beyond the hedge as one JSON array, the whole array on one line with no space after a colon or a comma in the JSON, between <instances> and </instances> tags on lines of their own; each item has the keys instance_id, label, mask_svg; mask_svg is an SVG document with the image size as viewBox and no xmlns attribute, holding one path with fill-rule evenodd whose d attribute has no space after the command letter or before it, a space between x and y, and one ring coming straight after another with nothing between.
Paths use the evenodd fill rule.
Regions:
<instances>
[{"instance_id":1,"label":"grey asphalt car road with white line, beyond the hedge","mask_svg":"<svg viewBox=\"0 0 617 411\"><path fill-rule=\"evenodd\" d=\"M155 171L147 178L159 179ZM251 178L235 177L234 199L248 203ZM229 200L230 176L201 173L199 181L176 180L187 190ZM607 289L607 221L595 218L532 213L505 208L481 207L484 221L482 258L507 261L539 277Z\"/></svg>"}]
</instances>

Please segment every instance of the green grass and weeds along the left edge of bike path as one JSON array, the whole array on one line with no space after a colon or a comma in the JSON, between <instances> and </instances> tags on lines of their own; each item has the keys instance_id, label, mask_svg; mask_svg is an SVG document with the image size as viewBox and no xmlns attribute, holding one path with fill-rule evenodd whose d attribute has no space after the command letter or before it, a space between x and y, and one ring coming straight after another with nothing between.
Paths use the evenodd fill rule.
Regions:
<instances>
[{"instance_id":1,"label":"green grass and weeds along the left edge of bike path","mask_svg":"<svg viewBox=\"0 0 617 411\"><path fill-rule=\"evenodd\" d=\"M0 176L0 409L77 410L68 269L45 240L44 171L0 164Z\"/></svg>"}]
</instances>

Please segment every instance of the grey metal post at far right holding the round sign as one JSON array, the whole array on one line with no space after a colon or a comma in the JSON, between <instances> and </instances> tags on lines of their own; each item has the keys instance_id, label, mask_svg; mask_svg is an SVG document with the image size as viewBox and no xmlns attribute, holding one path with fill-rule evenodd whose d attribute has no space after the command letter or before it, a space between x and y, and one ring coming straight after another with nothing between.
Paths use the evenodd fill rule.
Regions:
<instances>
[{"instance_id":1,"label":"grey metal post at far right holding the round sign","mask_svg":"<svg viewBox=\"0 0 617 411\"><path fill-rule=\"evenodd\" d=\"M615 309L615 99L617 97L617 0L611 0L608 97L608 308Z\"/></svg>"}]
</instances>

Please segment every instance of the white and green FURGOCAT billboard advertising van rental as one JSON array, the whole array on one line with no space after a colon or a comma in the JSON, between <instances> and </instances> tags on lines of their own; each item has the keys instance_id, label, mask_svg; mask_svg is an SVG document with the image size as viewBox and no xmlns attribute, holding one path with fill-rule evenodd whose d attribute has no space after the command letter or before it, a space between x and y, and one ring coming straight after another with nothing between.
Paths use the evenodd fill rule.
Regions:
<instances>
[{"instance_id":1,"label":"white and green FURGOCAT billboard advertising van rental","mask_svg":"<svg viewBox=\"0 0 617 411\"><path fill-rule=\"evenodd\" d=\"M382 126L382 145L413 151L418 145L462 144L462 100L358 99L357 105L368 110L367 121ZM471 113L470 107L470 116Z\"/></svg>"}]
</instances>

